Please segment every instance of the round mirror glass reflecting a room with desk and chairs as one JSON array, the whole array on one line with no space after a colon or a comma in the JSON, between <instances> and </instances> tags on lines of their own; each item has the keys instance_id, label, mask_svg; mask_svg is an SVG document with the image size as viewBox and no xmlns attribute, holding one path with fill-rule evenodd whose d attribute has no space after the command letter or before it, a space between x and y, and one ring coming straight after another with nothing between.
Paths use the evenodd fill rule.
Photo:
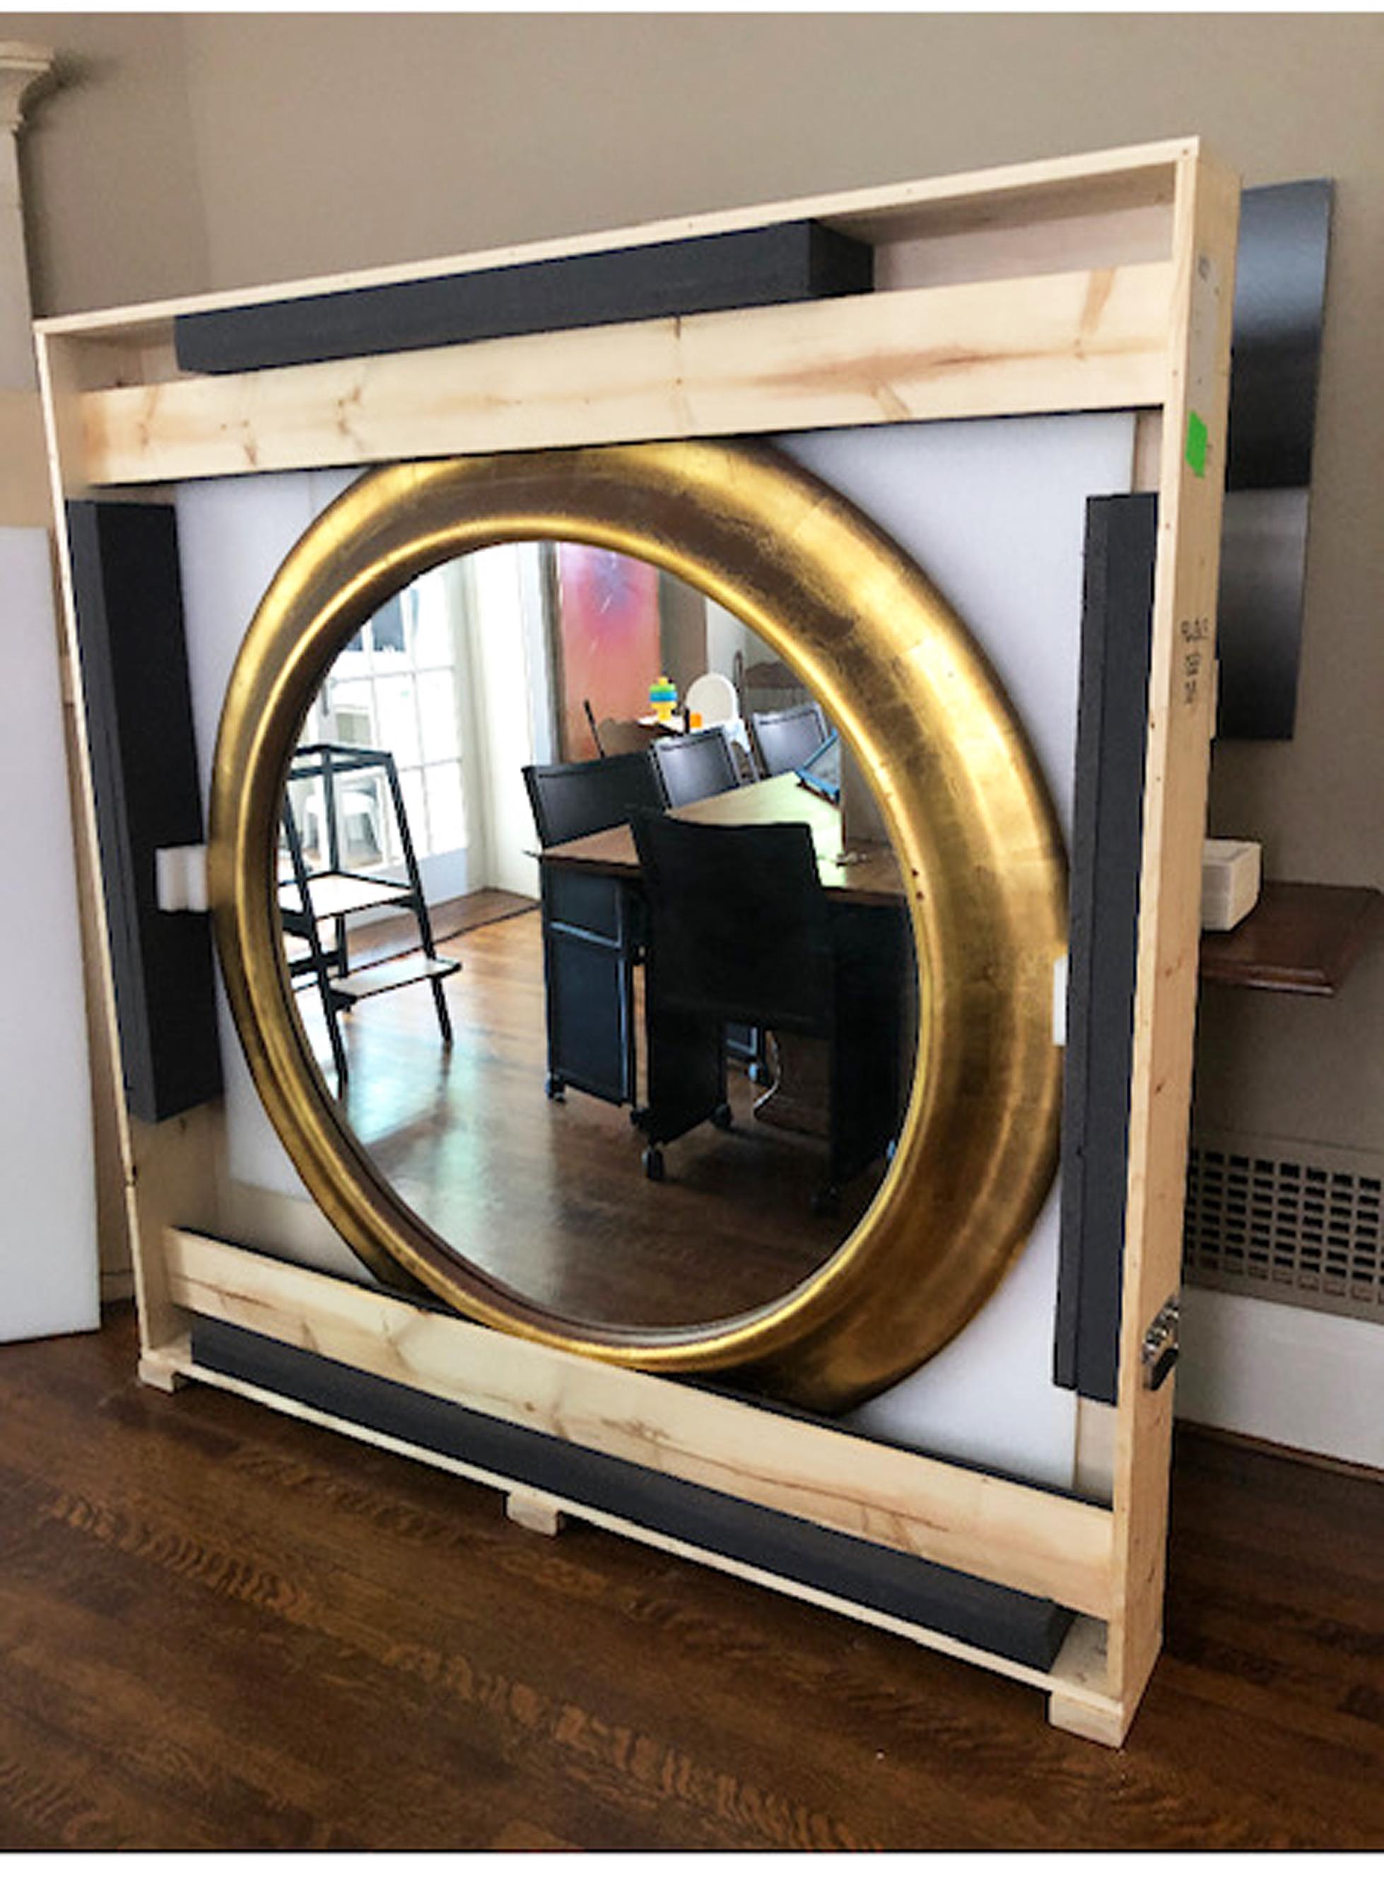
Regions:
<instances>
[{"instance_id":1,"label":"round mirror glass reflecting a room with desk and chairs","mask_svg":"<svg viewBox=\"0 0 1384 1885\"><path fill-rule=\"evenodd\" d=\"M737 839L651 878L624 811L658 799L805 824L820 895L801 848ZM762 1308L875 1195L916 1039L882 816L799 675L651 564L500 545L379 609L300 729L279 912L379 1174L543 1308ZM749 992L720 988L732 959Z\"/></svg>"}]
</instances>

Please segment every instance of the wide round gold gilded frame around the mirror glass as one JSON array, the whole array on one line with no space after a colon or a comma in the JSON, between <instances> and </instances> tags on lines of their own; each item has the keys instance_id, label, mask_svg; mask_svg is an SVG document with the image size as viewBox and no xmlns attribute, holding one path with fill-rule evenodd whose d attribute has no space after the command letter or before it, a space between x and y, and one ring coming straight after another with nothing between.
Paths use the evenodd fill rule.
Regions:
<instances>
[{"instance_id":1,"label":"wide round gold gilded frame around the mirror glass","mask_svg":"<svg viewBox=\"0 0 1384 1885\"><path fill-rule=\"evenodd\" d=\"M718 1323L579 1323L471 1265L373 1171L287 978L279 805L326 667L424 569L545 537L656 564L790 658L873 780L907 886L922 1024L896 1157L818 1270ZM837 1410L956 1335L1052 1182L1065 869L1039 769L982 652L916 566L769 447L515 452L362 477L288 554L243 643L215 756L209 886L249 1065L307 1189L381 1280L422 1282L490 1327L654 1372L752 1369L784 1399Z\"/></svg>"}]
</instances>

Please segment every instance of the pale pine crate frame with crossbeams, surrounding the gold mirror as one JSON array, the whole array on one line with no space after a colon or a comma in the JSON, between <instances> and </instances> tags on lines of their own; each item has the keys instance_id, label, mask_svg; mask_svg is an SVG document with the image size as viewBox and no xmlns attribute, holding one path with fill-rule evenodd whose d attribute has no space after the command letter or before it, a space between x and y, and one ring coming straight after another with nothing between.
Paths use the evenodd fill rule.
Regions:
<instances>
[{"instance_id":1,"label":"pale pine crate frame with crossbeams, surrounding the gold mirror","mask_svg":"<svg viewBox=\"0 0 1384 1885\"><path fill-rule=\"evenodd\" d=\"M500 1380L509 1404L505 1418L519 1412L543 1431L585 1438L618 1457L662 1465L771 1510L809 1516L1073 1604L1084 1621L1046 1674L909 1625L901 1634L1046 1689L1054 1723L1120 1744L1156 1659L1162 1619L1171 1389L1143 1389L1139 1350L1178 1276L1237 194L1235 179L1199 141L1184 139L492 251L419 270L40 324L64 564L62 501L126 484L686 432L1141 409L1141 464L1154 458L1148 445L1158 452L1160 552L1120 1404L1109 1510L769 1416L677 1382L605 1369L400 1304L339 1278L260 1259L217 1237L187 1235L179 1225L217 1221L217 1106L157 1129L132 1125L124 1116L119 1122L145 1380L158 1385L217 1380L256 1399L275 1399L190 1361L194 1308L354 1359L390 1380L415 1382L422 1369L460 1406L494 1410L494 1399L486 1397ZM1169 251L1150 258L1150 230L1163 226L1158 221L1163 209ZM1126 213L1129 236L1122 241ZM798 217L820 217L877 241L881 279L909 287L799 309L488 341L330 368L217 379L170 375L172 320L183 311ZM1069 266L1062 268L1067 230ZM945 287L914 287L928 279L928 238L945 249L939 270ZM958 279L965 273L969 239L977 258L973 281ZM1092 245L1105 241L1111 253L1103 262ZM1016 266L1003 279L1011 243ZM1041 273L1022 260L1037 253ZM503 402L492 409L475 398L486 360L490 371L503 368L511 375ZM436 407L420 407L430 371L437 373L434 398L439 383L443 388L441 420L432 417ZM592 375L585 418L573 405L583 373ZM354 400L345 424L339 407L332 407L343 398ZM1192 464L1195 451L1188 454L1194 413L1209 441L1205 464ZM66 567L64 598L75 660ZM75 705L85 714L81 699ZM104 980L109 1014L107 973ZM324 1418L298 1402L281 1404L300 1418ZM362 1438L404 1450L379 1434L362 1431ZM454 1461L437 1463L464 1470ZM503 1489L532 1491L507 1483ZM585 1516L622 1525L611 1516ZM651 1542L698 1555L667 1538ZM775 1583L750 1566L726 1568ZM850 1608L822 1593L798 1595ZM862 1615L899 1629L896 1619ZM1109 1619L1109 1642L1101 1619Z\"/></svg>"}]
</instances>

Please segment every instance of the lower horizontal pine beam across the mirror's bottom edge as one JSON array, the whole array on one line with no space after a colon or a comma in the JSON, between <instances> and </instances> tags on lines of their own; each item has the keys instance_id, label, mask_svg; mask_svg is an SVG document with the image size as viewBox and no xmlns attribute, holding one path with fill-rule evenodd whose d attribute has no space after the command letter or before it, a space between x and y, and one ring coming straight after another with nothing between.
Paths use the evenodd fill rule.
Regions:
<instances>
[{"instance_id":1,"label":"lower horizontal pine beam across the mirror's bottom edge","mask_svg":"<svg viewBox=\"0 0 1384 1885\"><path fill-rule=\"evenodd\" d=\"M1112 1517L1099 1506L611 1369L190 1231L168 1233L168 1276L173 1303L196 1314L1086 1615L1109 1614Z\"/></svg>"}]
</instances>

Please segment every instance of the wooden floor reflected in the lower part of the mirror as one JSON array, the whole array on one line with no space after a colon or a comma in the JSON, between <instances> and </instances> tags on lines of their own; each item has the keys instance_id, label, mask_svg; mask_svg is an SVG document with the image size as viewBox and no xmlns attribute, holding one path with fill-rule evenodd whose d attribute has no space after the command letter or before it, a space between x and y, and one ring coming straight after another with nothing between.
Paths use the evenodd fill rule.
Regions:
<instances>
[{"instance_id":1,"label":"wooden floor reflected in the lower part of the mirror","mask_svg":"<svg viewBox=\"0 0 1384 1885\"><path fill-rule=\"evenodd\" d=\"M735 1071L732 1131L688 1133L651 1184L624 1108L545 1093L537 912L443 952L462 961L441 984L453 1048L424 986L360 1003L343 1018L345 1106L404 1201L500 1282L611 1327L717 1321L784 1295L865 1210L879 1172L833 1218L813 1214L820 1142L752 1120L758 1090ZM302 1012L332 1078L313 995Z\"/></svg>"}]
</instances>

